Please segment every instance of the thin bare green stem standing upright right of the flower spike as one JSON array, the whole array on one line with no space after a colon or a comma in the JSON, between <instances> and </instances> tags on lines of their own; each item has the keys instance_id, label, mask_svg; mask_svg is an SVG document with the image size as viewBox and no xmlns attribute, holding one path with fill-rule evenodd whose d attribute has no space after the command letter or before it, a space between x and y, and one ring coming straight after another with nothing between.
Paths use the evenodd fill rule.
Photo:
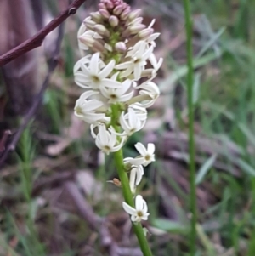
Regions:
<instances>
[{"instance_id":1,"label":"thin bare green stem standing upright right of the flower spike","mask_svg":"<svg viewBox=\"0 0 255 256\"><path fill-rule=\"evenodd\" d=\"M190 230L190 255L195 255L195 238L196 238L196 195L195 195L195 140L194 140L194 108L193 108L193 48L192 48L192 20L190 12L190 0L184 0L184 13L187 37L187 91L188 91L188 109L189 109L189 151L190 151L190 211L191 230Z\"/></svg>"}]
</instances>

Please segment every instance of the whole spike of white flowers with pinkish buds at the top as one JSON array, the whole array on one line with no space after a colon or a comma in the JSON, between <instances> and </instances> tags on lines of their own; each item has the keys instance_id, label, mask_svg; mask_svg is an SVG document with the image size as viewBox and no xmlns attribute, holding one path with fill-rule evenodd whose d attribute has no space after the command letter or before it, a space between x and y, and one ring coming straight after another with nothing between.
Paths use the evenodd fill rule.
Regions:
<instances>
[{"instance_id":1,"label":"whole spike of white flowers with pinkish buds at the top","mask_svg":"<svg viewBox=\"0 0 255 256\"><path fill-rule=\"evenodd\" d=\"M106 154L121 150L128 137L144 128L146 108L160 92L155 82L162 59L153 50L159 33L145 26L141 10L131 11L122 0L101 0L99 11L91 13L78 31L81 60L74 66L75 82L84 88L75 105L75 115L91 125L95 144ZM144 174L144 167L155 161L155 146L135 145L140 156L127 157L133 195ZM147 205L136 196L135 208L123 202L135 222L147 219Z\"/></svg>"}]
</instances>

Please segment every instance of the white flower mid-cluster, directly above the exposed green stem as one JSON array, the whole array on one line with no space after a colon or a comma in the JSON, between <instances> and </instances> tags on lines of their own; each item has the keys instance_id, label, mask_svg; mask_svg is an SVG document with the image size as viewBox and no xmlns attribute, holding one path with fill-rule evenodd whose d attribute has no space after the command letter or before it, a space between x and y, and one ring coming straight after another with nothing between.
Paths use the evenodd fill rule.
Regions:
<instances>
[{"instance_id":1,"label":"white flower mid-cluster, directly above the exposed green stem","mask_svg":"<svg viewBox=\"0 0 255 256\"><path fill-rule=\"evenodd\" d=\"M115 73L111 80L114 82L116 81L116 77L118 76L118 72ZM109 99L109 103L116 103L116 102L125 102L130 100L133 97L133 91L127 93L128 89L130 88L132 81L125 80L124 82L117 82L119 83L119 88L100 88L101 93L105 96L105 98ZM127 93L127 94L126 94Z\"/></svg>"}]
</instances>

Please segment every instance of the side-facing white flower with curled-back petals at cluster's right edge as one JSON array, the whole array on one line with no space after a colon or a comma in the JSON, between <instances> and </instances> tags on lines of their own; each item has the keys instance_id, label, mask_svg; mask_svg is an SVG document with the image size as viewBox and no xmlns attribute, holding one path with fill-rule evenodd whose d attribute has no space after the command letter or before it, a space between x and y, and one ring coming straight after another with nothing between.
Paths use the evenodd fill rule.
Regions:
<instances>
[{"instance_id":1,"label":"side-facing white flower with curled-back petals at cluster's right edge","mask_svg":"<svg viewBox=\"0 0 255 256\"><path fill-rule=\"evenodd\" d=\"M143 102L137 103L138 105L141 105L145 108L153 105L160 95L160 90L155 82L144 82L141 85L137 86L136 89L140 89L139 94L148 95L150 97L150 100L145 100Z\"/></svg>"}]
</instances>

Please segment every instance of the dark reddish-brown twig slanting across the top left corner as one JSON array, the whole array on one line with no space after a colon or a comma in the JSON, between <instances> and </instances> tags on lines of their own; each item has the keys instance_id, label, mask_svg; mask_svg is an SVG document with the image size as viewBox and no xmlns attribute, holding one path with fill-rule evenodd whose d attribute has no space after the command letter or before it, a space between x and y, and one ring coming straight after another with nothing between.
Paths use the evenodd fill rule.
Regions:
<instances>
[{"instance_id":1,"label":"dark reddish-brown twig slanting across the top left corner","mask_svg":"<svg viewBox=\"0 0 255 256\"><path fill-rule=\"evenodd\" d=\"M43 27L42 30L38 31L34 37L26 40L24 43L21 43L19 46L11 49L6 54L0 56L0 66L7 64L11 60L14 60L20 55L25 54L31 51L34 48L37 48L42 45L44 38L48 35L49 32L54 31L56 27L62 24L71 14L76 14L77 9L84 3L86 0L76 0L71 3L65 11L59 14L54 20L48 23L47 26Z\"/></svg>"}]
</instances>

